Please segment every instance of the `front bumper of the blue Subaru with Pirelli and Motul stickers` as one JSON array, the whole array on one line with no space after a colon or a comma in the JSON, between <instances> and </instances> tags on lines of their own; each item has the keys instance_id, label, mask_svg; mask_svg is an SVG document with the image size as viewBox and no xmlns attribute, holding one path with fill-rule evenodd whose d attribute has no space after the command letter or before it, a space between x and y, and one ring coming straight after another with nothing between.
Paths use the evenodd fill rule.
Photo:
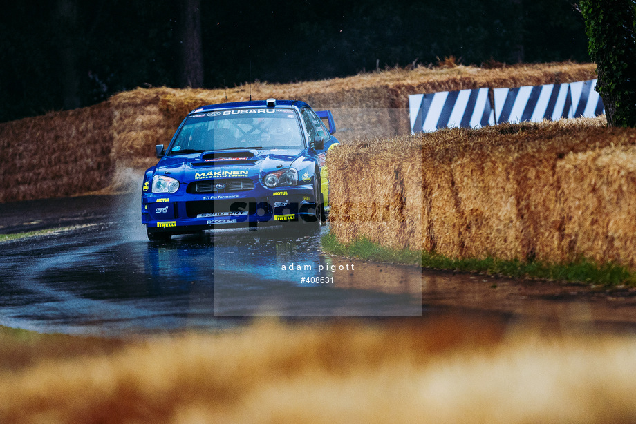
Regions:
<instances>
[{"instance_id":1,"label":"front bumper of the blue Subaru with Pirelli and Motul stickers","mask_svg":"<svg viewBox=\"0 0 636 424\"><path fill-rule=\"evenodd\" d=\"M315 222L311 185L276 191L257 187L240 193L175 195L144 193L142 224L157 232L194 233L206 229L260 227Z\"/></svg>"}]
</instances>

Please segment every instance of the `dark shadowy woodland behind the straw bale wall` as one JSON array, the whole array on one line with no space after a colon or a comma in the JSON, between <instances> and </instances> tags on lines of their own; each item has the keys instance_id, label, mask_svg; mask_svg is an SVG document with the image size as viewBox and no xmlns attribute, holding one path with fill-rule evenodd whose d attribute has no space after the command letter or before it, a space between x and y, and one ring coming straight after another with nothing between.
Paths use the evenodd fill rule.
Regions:
<instances>
[{"instance_id":1,"label":"dark shadowy woodland behind the straw bale wall","mask_svg":"<svg viewBox=\"0 0 636 424\"><path fill-rule=\"evenodd\" d=\"M198 86L201 78L205 88L306 81L436 64L451 55L476 65L589 60L571 0L200 1L203 66L184 82L188 59L176 46L187 3L196 1L6 3L0 122L88 106L138 86ZM67 4L75 5L70 26L59 13ZM79 102L68 101L71 90Z\"/></svg>"}]
</instances>

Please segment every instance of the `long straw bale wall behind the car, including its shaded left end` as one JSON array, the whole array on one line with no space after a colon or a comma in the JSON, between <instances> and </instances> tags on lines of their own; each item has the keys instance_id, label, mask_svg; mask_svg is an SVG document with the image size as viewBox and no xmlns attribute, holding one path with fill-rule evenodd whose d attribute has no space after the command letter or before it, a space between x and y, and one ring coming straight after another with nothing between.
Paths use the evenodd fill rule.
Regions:
<instances>
[{"instance_id":1,"label":"long straw bale wall behind the car, including its shaded left end","mask_svg":"<svg viewBox=\"0 0 636 424\"><path fill-rule=\"evenodd\" d=\"M135 186L131 182L136 182L140 171L156 163L154 146L168 144L189 111L205 104L247 100L250 93L254 99L299 99L317 109L333 109L339 128L337 135L341 142L349 143L408 133L409 94L577 81L593 78L594 69L593 64L571 63L499 69L418 67L294 84L255 82L218 90L138 88L114 95L91 108L0 124L0 154L5 160L0 175L6 182L0 189L0 202L88 191L130 190ZM420 156L419 152L413 154ZM396 166L404 166L404 160ZM411 169L411 173L421 166L419 162L409 164L411 168L406 168ZM451 171L436 172L441 176ZM429 181L429 177L431 175L424 175L423 181ZM449 184L451 181L442 178L439 182L431 180L431 184ZM392 184L399 185L400 182ZM404 186L404 190L409 192L411 186ZM438 191L434 193L439 195ZM389 199L386 202L406 201L408 204L409 199L411 197L407 196L406 200ZM418 202L421 204L421 200ZM394 204L396 208L397 203ZM435 210L431 209L431 213ZM380 211L374 210L371 215L378 213ZM426 228L430 231L427 216L418 215L409 221L422 224L422 231ZM480 218L470 215L469 219ZM453 225L465 227L460 220ZM406 231L411 232L411 227ZM418 231L420 229L415 232ZM447 240L442 242L440 247L447 243ZM449 247L451 251L461 250L459 240L451 245L455 246Z\"/></svg>"}]
</instances>

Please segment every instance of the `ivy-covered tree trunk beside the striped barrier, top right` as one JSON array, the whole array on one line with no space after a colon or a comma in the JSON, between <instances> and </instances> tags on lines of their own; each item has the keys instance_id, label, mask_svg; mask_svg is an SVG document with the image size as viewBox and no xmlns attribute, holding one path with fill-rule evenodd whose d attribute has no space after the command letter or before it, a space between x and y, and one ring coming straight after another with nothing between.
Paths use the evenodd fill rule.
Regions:
<instances>
[{"instance_id":1,"label":"ivy-covered tree trunk beside the striped barrier, top right","mask_svg":"<svg viewBox=\"0 0 636 424\"><path fill-rule=\"evenodd\" d=\"M636 2L582 0L589 52L597 64L597 91L609 126L636 126Z\"/></svg>"}]
</instances>

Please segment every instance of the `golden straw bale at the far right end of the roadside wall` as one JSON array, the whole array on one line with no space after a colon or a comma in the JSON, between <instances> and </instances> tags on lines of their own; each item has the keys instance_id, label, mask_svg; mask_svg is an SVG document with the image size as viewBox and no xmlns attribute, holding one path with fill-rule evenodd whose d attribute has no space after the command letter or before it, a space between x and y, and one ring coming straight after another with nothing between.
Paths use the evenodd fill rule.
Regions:
<instances>
[{"instance_id":1,"label":"golden straw bale at the far right end of the roadside wall","mask_svg":"<svg viewBox=\"0 0 636 424\"><path fill-rule=\"evenodd\" d=\"M636 266L636 146L571 153L557 164L563 254Z\"/></svg>"}]
</instances>

